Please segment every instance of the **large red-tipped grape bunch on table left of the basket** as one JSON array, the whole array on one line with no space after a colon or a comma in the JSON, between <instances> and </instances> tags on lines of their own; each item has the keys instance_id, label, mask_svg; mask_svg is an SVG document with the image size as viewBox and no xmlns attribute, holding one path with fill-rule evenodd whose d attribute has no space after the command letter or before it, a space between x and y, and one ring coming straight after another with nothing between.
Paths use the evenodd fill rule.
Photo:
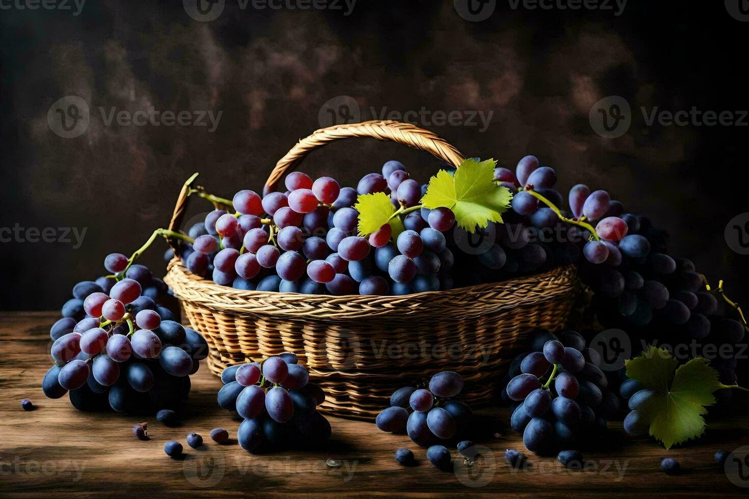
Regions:
<instances>
[{"instance_id":1,"label":"large red-tipped grape bunch on table left of the basket","mask_svg":"<svg viewBox=\"0 0 749 499\"><path fill-rule=\"evenodd\" d=\"M145 266L118 253L104 266L112 275L76 284L49 331L55 365L43 378L44 394L57 399L69 392L79 410L178 407L189 375L208 355L207 343L156 303L166 285Z\"/></svg>"}]
</instances>

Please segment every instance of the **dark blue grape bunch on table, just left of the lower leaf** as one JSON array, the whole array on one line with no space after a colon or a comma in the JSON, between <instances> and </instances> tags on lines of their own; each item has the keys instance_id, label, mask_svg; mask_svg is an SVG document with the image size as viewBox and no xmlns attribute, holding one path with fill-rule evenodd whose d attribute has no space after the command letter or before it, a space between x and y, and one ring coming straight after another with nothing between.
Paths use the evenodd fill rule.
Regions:
<instances>
[{"instance_id":1,"label":"dark blue grape bunch on table, just left of the lower leaf","mask_svg":"<svg viewBox=\"0 0 749 499\"><path fill-rule=\"evenodd\" d=\"M530 334L530 353L510 364L502 397L515 405L510 425L528 450L552 453L584 445L619 416L616 389L610 390L598 352L585 344L576 331L557 337L539 329Z\"/></svg>"}]
</instances>

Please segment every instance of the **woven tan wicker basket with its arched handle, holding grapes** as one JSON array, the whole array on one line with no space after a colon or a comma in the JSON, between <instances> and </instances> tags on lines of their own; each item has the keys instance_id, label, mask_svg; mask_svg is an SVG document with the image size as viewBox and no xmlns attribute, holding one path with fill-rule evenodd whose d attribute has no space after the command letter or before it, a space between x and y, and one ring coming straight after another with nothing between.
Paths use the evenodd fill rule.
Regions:
<instances>
[{"instance_id":1,"label":"woven tan wicker basket with its arched handle, holding grapes","mask_svg":"<svg viewBox=\"0 0 749 499\"><path fill-rule=\"evenodd\" d=\"M396 141L459 165L461 155L431 132L407 123L370 121L317 130L279 161L264 192L321 145L347 137ZM172 218L179 227L183 189ZM464 401L478 405L496 394L503 364L533 328L564 325L577 294L574 266L496 284L408 296L321 296L235 290L187 272L175 258L165 281L184 305L192 328L204 334L208 365L219 374L232 364L294 352L324 388L324 410L374 418L395 389L441 370L464 377Z\"/></svg>"}]
</instances>

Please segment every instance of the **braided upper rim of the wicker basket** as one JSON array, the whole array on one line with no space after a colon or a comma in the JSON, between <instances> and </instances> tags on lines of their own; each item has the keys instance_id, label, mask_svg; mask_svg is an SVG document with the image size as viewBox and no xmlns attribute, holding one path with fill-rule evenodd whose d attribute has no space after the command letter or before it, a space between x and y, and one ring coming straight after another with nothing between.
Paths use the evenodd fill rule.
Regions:
<instances>
[{"instance_id":1,"label":"braided upper rim of the wicker basket","mask_svg":"<svg viewBox=\"0 0 749 499\"><path fill-rule=\"evenodd\" d=\"M423 316L434 314L437 308L441 316L449 316L451 313L459 313L462 317L481 315L486 313L488 307L503 310L574 293L573 284L576 279L577 269L574 265L569 265L497 283L405 296L304 295L220 286L187 271L178 257L169 262L164 278L178 299L200 304L211 310L281 314L312 319L351 319L383 314Z\"/></svg>"}]
</instances>

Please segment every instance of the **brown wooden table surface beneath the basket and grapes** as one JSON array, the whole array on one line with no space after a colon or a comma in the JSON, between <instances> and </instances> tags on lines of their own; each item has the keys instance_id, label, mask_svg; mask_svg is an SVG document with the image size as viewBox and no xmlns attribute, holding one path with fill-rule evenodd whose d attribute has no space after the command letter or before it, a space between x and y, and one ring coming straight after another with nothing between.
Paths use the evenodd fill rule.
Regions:
<instances>
[{"instance_id":1,"label":"brown wooden table surface beneath the basket and grapes","mask_svg":"<svg viewBox=\"0 0 749 499\"><path fill-rule=\"evenodd\" d=\"M166 427L155 417L77 411L69 399L47 399L41 379L52 364L49 325L56 313L0 312L0 497L119 495L729 495L746 496L749 476L731 482L716 465L718 449L749 445L749 404L736 402L728 414L713 417L705 438L666 451L648 438L628 438L621 423L610 427L608 450L585 454L586 467L570 471L554 457L529 456L527 469L506 464L504 450L524 450L508 426L507 408L477 411L482 459L464 465L452 450L453 471L440 471L425 459L425 449L406 435L380 432L374 424L330 417L333 437L327 448L262 456L236 443L219 445L210 430L222 426L236 437L240 420L216 405L221 382L204 366L191 377L192 391L180 426ZM20 401L31 399L34 411ZM148 421L150 441L133 435L133 424ZM189 432L206 444L194 450ZM181 441L184 459L163 451L167 440ZM403 468L393 459L398 447L413 450L418 465ZM679 460L683 473L660 471L662 458ZM339 468L329 468L336 459ZM745 470L747 471L747 470ZM743 476L742 476L743 477Z\"/></svg>"}]
</instances>

